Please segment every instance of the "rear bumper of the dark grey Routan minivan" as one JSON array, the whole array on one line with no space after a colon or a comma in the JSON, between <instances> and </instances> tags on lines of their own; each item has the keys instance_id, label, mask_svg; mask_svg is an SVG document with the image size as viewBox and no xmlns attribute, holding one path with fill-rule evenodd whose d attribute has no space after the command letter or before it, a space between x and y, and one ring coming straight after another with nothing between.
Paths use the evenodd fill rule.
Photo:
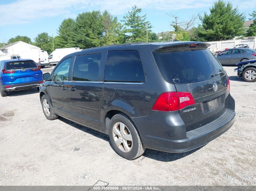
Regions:
<instances>
[{"instance_id":1,"label":"rear bumper of the dark grey Routan minivan","mask_svg":"<svg viewBox=\"0 0 256 191\"><path fill-rule=\"evenodd\" d=\"M160 112L160 115L159 111L153 111L148 116L132 120L146 148L173 153L186 152L207 144L234 124L235 103L230 95L229 102L228 108L218 119L188 132L178 111Z\"/></svg>"}]
</instances>

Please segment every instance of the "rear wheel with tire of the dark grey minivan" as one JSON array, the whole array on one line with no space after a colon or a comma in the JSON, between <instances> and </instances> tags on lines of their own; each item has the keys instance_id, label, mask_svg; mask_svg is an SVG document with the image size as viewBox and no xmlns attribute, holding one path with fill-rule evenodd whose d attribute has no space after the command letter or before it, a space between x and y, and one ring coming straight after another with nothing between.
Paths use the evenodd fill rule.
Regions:
<instances>
[{"instance_id":1,"label":"rear wheel with tire of the dark grey minivan","mask_svg":"<svg viewBox=\"0 0 256 191\"><path fill-rule=\"evenodd\" d=\"M145 152L135 124L123 113L111 118L109 138L116 153L128 160L138 158Z\"/></svg>"}]
</instances>

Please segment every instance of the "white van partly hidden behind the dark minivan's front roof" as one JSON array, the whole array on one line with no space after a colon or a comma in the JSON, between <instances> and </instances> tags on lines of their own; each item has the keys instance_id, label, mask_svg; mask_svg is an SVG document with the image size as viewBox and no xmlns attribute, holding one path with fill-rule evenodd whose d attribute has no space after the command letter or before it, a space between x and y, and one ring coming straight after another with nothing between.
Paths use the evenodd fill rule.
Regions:
<instances>
[{"instance_id":1,"label":"white van partly hidden behind the dark minivan's front roof","mask_svg":"<svg viewBox=\"0 0 256 191\"><path fill-rule=\"evenodd\" d=\"M79 52L82 49L75 47L75 48L57 48L53 51L49 56L50 64L57 64L64 56Z\"/></svg>"}]
</instances>

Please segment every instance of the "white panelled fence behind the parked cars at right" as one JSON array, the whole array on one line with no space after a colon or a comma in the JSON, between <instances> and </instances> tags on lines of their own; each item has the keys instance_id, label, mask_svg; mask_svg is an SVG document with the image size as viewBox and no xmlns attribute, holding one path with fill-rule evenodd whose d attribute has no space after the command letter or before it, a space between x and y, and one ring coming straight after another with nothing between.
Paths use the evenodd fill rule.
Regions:
<instances>
[{"instance_id":1,"label":"white panelled fence behind the parked cars at right","mask_svg":"<svg viewBox=\"0 0 256 191\"><path fill-rule=\"evenodd\" d=\"M224 50L226 48L234 48L238 44L248 44L250 49L256 49L256 37L245 37L244 39L237 40L222 40L207 42L211 44L209 49L212 51Z\"/></svg>"}]
</instances>

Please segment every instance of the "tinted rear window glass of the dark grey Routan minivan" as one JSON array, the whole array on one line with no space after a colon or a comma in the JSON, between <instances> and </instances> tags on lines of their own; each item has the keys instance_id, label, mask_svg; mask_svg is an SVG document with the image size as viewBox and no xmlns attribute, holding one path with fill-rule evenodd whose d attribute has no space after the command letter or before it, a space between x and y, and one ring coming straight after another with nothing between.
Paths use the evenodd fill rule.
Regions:
<instances>
[{"instance_id":1,"label":"tinted rear window glass of the dark grey Routan minivan","mask_svg":"<svg viewBox=\"0 0 256 191\"><path fill-rule=\"evenodd\" d=\"M163 78L169 83L191 84L225 74L207 48L168 49L152 53Z\"/></svg>"}]
</instances>

